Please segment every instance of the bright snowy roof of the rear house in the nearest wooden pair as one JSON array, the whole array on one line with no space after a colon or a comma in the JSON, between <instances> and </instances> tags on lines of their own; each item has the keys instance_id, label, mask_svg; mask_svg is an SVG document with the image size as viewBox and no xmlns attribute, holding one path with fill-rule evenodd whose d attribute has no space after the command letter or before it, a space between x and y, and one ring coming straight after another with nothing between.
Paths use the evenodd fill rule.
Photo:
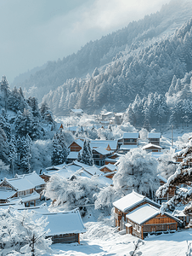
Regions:
<instances>
[{"instance_id":1,"label":"bright snowy roof of the rear house in the nearest wooden pair","mask_svg":"<svg viewBox=\"0 0 192 256\"><path fill-rule=\"evenodd\" d=\"M156 207L161 207L159 204L155 203L155 201L152 201L150 200L150 198L144 195L140 195L135 191L115 201L113 203L113 206L119 209L121 212L127 212L131 210L133 207L136 207L138 204L140 204L143 201L147 201L155 205Z\"/></svg>"}]
</instances>

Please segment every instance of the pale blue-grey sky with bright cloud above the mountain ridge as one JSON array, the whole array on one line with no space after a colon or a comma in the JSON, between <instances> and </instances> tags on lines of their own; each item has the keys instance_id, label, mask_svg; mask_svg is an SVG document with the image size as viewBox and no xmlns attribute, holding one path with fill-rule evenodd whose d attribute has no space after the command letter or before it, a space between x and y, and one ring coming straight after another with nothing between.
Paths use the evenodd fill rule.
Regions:
<instances>
[{"instance_id":1,"label":"pale blue-grey sky with bright cloud above the mountain ridge","mask_svg":"<svg viewBox=\"0 0 192 256\"><path fill-rule=\"evenodd\" d=\"M0 79L62 60L170 0L0 0Z\"/></svg>"}]
</instances>

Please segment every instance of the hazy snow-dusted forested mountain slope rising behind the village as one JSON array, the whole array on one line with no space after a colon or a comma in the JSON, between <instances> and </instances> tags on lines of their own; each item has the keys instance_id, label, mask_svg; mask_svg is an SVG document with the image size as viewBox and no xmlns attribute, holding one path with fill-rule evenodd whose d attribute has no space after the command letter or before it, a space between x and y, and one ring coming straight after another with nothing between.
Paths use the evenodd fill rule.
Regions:
<instances>
[{"instance_id":1,"label":"hazy snow-dusted forested mountain slope rising behind the village","mask_svg":"<svg viewBox=\"0 0 192 256\"><path fill-rule=\"evenodd\" d=\"M156 14L89 42L76 55L49 61L16 85L43 97L56 114L70 108L124 111L137 94L165 95L174 75L183 79L192 69L191 16L191 1L171 1Z\"/></svg>"}]
</instances>

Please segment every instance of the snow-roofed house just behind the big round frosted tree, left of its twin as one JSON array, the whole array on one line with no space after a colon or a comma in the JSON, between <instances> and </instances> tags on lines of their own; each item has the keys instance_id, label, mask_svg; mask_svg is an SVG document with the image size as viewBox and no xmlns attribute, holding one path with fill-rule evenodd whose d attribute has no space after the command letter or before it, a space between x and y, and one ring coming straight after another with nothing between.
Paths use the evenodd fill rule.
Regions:
<instances>
[{"instance_id":1,"label":"snow-roofed house just behind the big round frosted tree, left of its twin","mask_svg":"<svg viewBox=\"0 0 192 256\"><path fill-rule=\"evenodd\" d=\"M118 148L120 148L121 145L138 146L138 138L139 138L138 132L124 132L123 136L117 140Z\"/></svg>"}]
</instances>

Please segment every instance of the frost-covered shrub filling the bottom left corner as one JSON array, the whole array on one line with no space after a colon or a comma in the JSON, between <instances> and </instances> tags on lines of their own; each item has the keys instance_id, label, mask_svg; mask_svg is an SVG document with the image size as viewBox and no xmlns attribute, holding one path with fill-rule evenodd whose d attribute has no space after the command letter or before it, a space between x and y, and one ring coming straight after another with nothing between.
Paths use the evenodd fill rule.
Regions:
<instances>
[{"instance_id":1,"label":"frost-covered shrub filling the bottom left corner","mask_svg":"<svg viewBox=\"0 0 192 256\"><path fill-rule=\"evenodd\" d=\"M42 255L51 253L51 240L44 231L48 223L36 218L34 212L0 211L0 254L1 255ZM33 254L34 253L34 254Z\"/></svg>"}]
</instances>

